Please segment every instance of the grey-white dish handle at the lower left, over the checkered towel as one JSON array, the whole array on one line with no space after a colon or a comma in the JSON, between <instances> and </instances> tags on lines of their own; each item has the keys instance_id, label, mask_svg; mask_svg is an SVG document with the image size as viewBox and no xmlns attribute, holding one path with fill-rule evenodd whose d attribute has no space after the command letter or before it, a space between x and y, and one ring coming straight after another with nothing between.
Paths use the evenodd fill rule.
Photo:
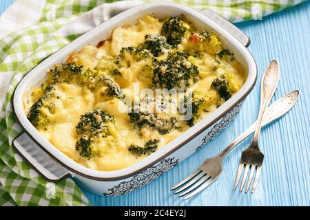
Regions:
<instances>
[{"instance_id":1,"label":"grey-white dish handle at the lower left, over the checkered towel","mask_svg":"<svg viewBox=\"0 0 310 220\"><path fill-rule=\"evenodd\" d=\"M72 173L69 170L45 153L27 133L17 137L13 141L13 146L19 155L48 181L57 182L72 177Z\"/></svg>"}]
</instances>

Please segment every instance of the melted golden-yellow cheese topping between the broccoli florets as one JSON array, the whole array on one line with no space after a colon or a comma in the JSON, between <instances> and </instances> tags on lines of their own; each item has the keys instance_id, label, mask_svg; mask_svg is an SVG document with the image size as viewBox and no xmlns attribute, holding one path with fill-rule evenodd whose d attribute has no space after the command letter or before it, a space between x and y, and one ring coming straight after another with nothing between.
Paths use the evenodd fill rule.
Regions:
<instances>
[{"instance_id":1,"label":"melted golden-yellow cheese topping between the broccoli florets","mask_svg":"<svg viewBox=\"0 0 310 220\"><path fill-rule=\"evenodd\" d=\"M149 60L142 59L133 61L132 58L124 61L121 67L118 67L119 74L109 74L110 63L114 56L117 56L123 47L138 47L145 40L146 34L161 34L161 28L165 21L160 21L152 16L138 19L135 25L125 25L115 28L110 40L104 41L100 47L85 45L79 52L70 54L68 61L73 61L77 65L83 65L83 69L95 69L96 74L100 76L109 75L123 89L126 97L135 98L134 86L138 85L140 89L152 87L152 75L149 75L149 66L152 65ZM191 87L193 90L209 91L211 83L215 78L226 74L229 81L229 89L236 93L245 82L243 68L234 58L219 59L216 54L222 51L220 41L215 35L205 45L196 42L191 32L194 28L190 27L183 37L182 42L171 51L191 51L203 52L199 56L189 56L187 60L189 65L196 65L199 70L199 80ZM198 39L199 40L199 39ZM167 53L159 56L158 60L165 60ZM130 60L131 59L131 60ZM51 82L51 79L47 83ZM158 148L165 146L181 133L186 131L189 126L187 122L180 121L179 129L173 129L167 134L160 134L154 129L143 127L140 131L130 122L130 116L127 113L127 105L118 98L103 98L101 94L105 91L104 87L92 89L85 85L74 82L56 82L53 83L56 91L54 106L52 111L46 113L48 118L47 126L36 126L38 131L51 144L61 152L68 155L71 159L83 166L95 170L118 170L130 166L147 155L136 156L128 151L131 144L143 146L148 140L160 140ZM34 89L32 94L27 97L28 104L25 105L25 113L28 114L32 105L43 96L41 88ZM218 97L216 92L208 94L209 99ZM176 100L176 97L172 97ZM214 111L220 103L225 100L220 99L211 102L202 112L202 117ZM94 146L100 154L96 157L87 159L81 157L79 151L76 151L76 142L79 135L76 133L76 125L79 123L81 115L87 111L102 109L110 113L115 118L116 134L99 138L94 141ZM161 113L163 117L172 117L178 113Z\"/></svg>"}]
</instances>

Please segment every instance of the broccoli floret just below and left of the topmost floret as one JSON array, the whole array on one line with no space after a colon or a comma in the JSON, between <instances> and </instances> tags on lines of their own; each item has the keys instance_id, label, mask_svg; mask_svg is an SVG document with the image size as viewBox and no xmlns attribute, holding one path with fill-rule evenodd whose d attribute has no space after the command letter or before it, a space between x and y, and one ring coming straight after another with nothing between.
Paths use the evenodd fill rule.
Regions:
<instances>
[{"instance_id":1,"label":"broccoli floret just below and left of the topmost floret","mask_svg":"<svg viewBox=\"0 0 310 220\"><path fill-rule=\"evenodd\" d=\"M161 56L161 54L164 54L171 48L166 39L161 35L147 34L144 38L143 47L149 50L154 56Z\"/></svg>"}]
</instances>

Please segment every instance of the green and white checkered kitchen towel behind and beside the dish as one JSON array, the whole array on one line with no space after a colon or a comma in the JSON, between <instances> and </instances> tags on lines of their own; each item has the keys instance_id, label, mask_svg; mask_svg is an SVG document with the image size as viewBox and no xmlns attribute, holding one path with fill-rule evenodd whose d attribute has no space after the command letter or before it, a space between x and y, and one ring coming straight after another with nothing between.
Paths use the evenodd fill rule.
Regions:
<instances>
[{"instance_id":1,"label":"green and white checkered kitchen towel behind and beside the dish","mask_svg":"<svg viewBox=\"0 0 310 220\"><path fill-rule=\"evenodd\" d=\"M232 22L259 19L302 0L206 0L177 3L209 8ZM48 183L12 148L23 133L12 113L19 80L45 57L114 14L145 1L18 0L0 17L0 206L87 206L72 179ZM52 187L52 188L51 188ZM54 193L50 193L53 190Z\"/></svg>"}]
</instances>

